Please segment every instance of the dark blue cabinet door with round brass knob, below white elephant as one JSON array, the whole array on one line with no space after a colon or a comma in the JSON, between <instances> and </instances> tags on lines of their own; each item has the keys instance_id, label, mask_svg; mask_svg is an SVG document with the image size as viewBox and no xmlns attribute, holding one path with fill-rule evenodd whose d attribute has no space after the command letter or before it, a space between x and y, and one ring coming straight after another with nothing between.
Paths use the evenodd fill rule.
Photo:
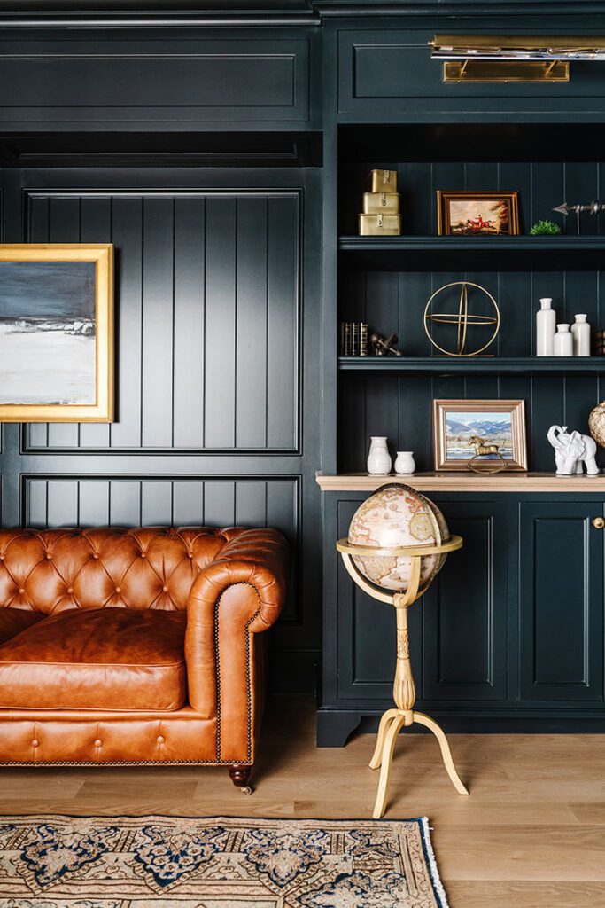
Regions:
<instances>
[{"instance_id":1,"label":"dark blue cabinet door with round brass knob, below white elephant","mask_svg":"<svg viewBox=\"0 0 605 908\"><path fill-rule=\"evenodd\" d=\"M523 701L603 699L603 505L520 506Z\"/></svg>"}]
</instances>

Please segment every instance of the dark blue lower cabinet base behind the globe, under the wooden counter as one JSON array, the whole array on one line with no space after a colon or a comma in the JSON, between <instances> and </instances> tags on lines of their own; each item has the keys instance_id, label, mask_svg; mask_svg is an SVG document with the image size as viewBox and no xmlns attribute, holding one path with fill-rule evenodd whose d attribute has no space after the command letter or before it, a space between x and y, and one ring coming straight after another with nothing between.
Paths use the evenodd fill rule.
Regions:
<instances>
[{"instance_id":1,"label":"dark blue lower cabinet base behind the globe, under the wooden counter","mask_svg":"<svg viewBox=\"0 0 605 908\"><path fill-rule=\"evenodd\" d=\"M366 496L328 493L326 540ZM443 494L464 538L410 609L417 708L445 732L605 732L599 494ZM323 698L317 745L376 731L393 705L395 617L324 553ZM412 729L417 732L416 728Z\"/></svg>"}]
</instances>

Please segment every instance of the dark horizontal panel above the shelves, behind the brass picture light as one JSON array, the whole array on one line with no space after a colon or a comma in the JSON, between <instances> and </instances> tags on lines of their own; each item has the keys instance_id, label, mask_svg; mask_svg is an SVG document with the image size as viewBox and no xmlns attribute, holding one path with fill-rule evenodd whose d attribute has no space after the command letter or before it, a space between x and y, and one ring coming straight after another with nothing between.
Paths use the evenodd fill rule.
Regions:
<instances>
[{"instance_id":1,"label":"dark horizontal panel above the shelves, behind the brass picture light","mask_svg":"<svg viewBox=\"0 0 605 908\"><path fill-rule=\"evenodd\" d=\"M561 112L561 99L570 110L582 108L590 98L590 110L605 109L605 64L571 64L569 83L448 83L442 78L442 61L432 60L428 42L434 31L427 29L343 30L339 33L340 70L338 110L341 114L394 112L424 114L516 111L545 114ZM486 104L486 99L493 102ZM539 105L539 106L537 106Z\"/></svg>"}]
</instances>

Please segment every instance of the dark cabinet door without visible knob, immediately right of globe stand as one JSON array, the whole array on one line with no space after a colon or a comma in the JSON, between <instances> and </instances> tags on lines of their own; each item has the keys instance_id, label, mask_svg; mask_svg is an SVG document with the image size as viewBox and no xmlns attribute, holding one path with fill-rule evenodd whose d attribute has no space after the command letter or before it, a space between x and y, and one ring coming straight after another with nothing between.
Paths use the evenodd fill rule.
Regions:
<instances>
[{"instance_id":1,"label":"dark cabinet door without visible knob, immediately right of globe stand","mask_svg":"<svg viewBox=\"0 0 605 908\"><path fill-rule=\"evenodd\" d=\"M506 698L507 555L503 501L441 506L464 548L424 597L424 698Z\"/></svg>"}]
</instances>

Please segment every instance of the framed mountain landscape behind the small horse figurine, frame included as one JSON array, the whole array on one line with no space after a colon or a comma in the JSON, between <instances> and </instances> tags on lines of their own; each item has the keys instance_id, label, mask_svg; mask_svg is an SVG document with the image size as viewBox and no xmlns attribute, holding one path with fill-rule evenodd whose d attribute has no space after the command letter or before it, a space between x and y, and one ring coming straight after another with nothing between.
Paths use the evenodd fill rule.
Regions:
<instances>
[{"instance_id":1,"label":"framed mountain landscape behind the small horse figurine, frame included","mask_svg":"<svg viewBox=\"0 0 605 908\"><path fill-rule=\"evenodd\" d=\"M523 400L434 400L434 469L527 469Z\"/></svg>"}]
</instances>

